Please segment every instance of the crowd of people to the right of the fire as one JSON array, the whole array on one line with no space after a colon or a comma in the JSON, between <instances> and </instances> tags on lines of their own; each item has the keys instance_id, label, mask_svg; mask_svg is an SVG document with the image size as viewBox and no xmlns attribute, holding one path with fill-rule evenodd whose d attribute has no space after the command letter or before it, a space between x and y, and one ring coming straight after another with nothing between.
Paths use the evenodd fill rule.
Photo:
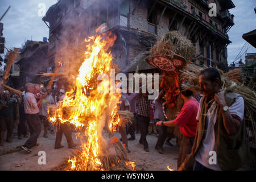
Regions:
<instances>
[{"instance_id":1,"label":"crowd of people to the right of the fire","mask_svg":"<svg viewBox=\"0 0 256 182\"><path fill-rule=\"evenodd\" d=\"M204 69L199 83L203 94L183 90L181 97L184 105L171 121L167 121L163 111L164 90L160 90L154 101L148 100L148 94L122 93L122 107L131 110L135 118L125 130L126 134L131 135L128 140L134 140L134 132L140 131L139 143L143 145L144 151L149 152L146 137L153 131L158 136L155 149L163 154L164 142L170 143L167 128L178 126L181 133L178 169L232 170L242 167L250 160L251 168L255 169L255 142L250 141L250 150L246 146L251 137L248 138L244 132L243 97L221 91L221 75L216 68ZM217 107L210 112L213 101L217 103ZM121 140L128 147L126 134L121 134ZM213 152L217 154L216 160L209 162Z\"/></svg>"}]
</instances>

